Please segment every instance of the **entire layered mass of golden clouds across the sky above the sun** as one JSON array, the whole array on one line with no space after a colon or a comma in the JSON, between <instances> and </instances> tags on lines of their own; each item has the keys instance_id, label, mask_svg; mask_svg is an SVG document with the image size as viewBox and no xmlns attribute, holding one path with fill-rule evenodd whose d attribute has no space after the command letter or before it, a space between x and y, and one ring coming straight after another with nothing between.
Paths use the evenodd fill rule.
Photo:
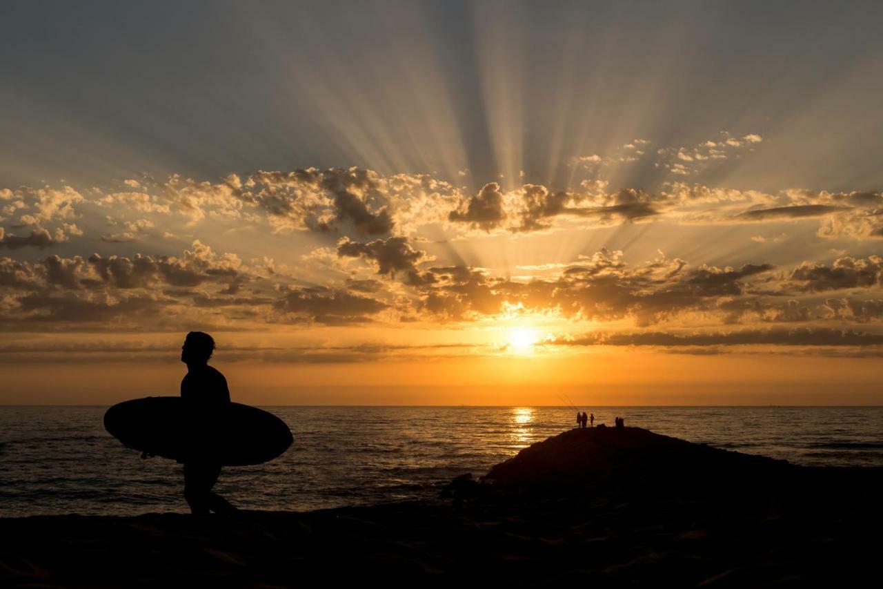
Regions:
<instances>
[{"instance_id":1,"label":"entire layered mass of golden clouds across the sky above the sun","mask_svg":"<svg viewBox=\"0 0 883 589\"><path fill-rule=\"evenodd\" d=\"M661 152L635 140L609 157L660 157L700 166L739 157L759 139L721 135ZM587 157L585 163L618 162L605 157ZM819 238L864 241L883 235L881 210L883 195L871 191L767 193L683 181L645 190L588 177L577 177L566 189L490 182L472 190L432 174L358 167L237 173L213 181L144 176L81 191L0 189L6 227L0 229L0 249L8 254L0 258L0 317L17 321L21 329L62 329L65 322L87 329L88 320L73 325L68 318L82 309L84 317L105 317L95 320L96 330L106 317L117 327L162 329L187 313L230 329L266 329L279 322L490 323L521 316L618 322L630 329L871 324L879 321L874 301L881 285L880 258L868 256L872 243L856 244L857 249L834 244L843 249L834 262L813 256L830 249ZM589 233L636 222L659 223L659 231ZM757 224L783 222L793 231L775 249L784 235L774 237L781 227L765 231ZM627 261L615 249L582 249L589 243L630 244L636 234L671 236L678 226L725 224L742 245L751 245L749 239L767 245L747 249L740 258L724 249L727 243L706 243L714 241L706 229L696 232L704 235L689 261L661 252L653 260ZM561 235L567 245L548 247L555 237L525 236L562 230L570 232ZM212 243L248 252L249 261L232 251L216 253L208 239L194 240L207 235ZM680 238L663 239L681 251L691 249ZM801 259L794 248L802 239L811 240L806 261L776 271L774 261ZM140 240L147 244L141 253L119 245ZM177 240L192 245L175 246ZM490 252L513 243L523 252L544 245L515 258ZM151 246L156 249L147 249ZM51 247L57 249L40 251ZM276 258L291 268L251 259L253 248L263 247L275 248ZM850 250L857 256L849 256ZM703 264L711 259L736 263ZM126 306L139 301L141 311Z\"/></svg>"}]
</instances>

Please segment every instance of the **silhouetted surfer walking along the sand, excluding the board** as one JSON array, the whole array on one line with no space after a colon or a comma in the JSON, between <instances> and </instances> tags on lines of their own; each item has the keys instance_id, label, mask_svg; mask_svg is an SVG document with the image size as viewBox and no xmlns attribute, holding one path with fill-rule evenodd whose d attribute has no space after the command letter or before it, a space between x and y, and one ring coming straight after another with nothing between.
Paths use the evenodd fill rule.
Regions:
<instances>
[{"instance_id":1,"label":"silhouetted surfer walking along the sand, excluding the board","mask_svg":"<svg viewBox=\"0 0 883 589\"><path fill-rule=\"evenodd\" d=\"M181 347L181 362L187 364L187 373L181 380L181 398L192 410L193 435L200 446L200 426L211 419L213 410L230 402L227 379L208 365L215 351L215 340L208 333L190 332ZM212 493L212 487L221 474L221 464L203 458L197 452L184 461L184 498L194 516L209 511L231 511L235 508L221 495Z\"/></svg>"}]
</instances>

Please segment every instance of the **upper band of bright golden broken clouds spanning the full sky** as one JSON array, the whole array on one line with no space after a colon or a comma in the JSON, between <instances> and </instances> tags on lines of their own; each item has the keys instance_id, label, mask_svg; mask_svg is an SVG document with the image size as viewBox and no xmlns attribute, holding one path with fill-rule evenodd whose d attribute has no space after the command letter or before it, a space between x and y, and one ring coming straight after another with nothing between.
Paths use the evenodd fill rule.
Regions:
<instances>
[{"instance_id":1,"label":"upper band of bright golden broken clouds spanning the full sky","mask_svg":"<svg viewBox=\"0 0 883 589\"><path fill-rule=\"evenodd\" d=\"M736 153L733 150L750 149L757 143L753 134L741 138L725 134L698 144L689 153L683 148L661 148L655 153L672 157L676 165L706 165L715 157L725 159ZM622 157L643 157L646 145L645 140L635 140L617 149ZM490 182L467 195L464 188L429 174L383 175L358 167L230 174L215 182L173 174L166 180L144 177L117 189L93 188L82 194L72 187L4 189L3 203L8 203L4 214L19 215L19 225L47 229L53 235L57 229L65 235L76 234L69 230L73 227L70 220L83 213L74 206L86 214L106 210L111 222L120 227L103 236L107 242L134 241L142 233L147 235L146 226L138 223L162 225L158 233L170 233L160 220L164 216L182 218L190 228L236 219L239 226L266 223L273 232L312 231L353 241L396 235L413 238L421 228L434 224L458 234L476 230L531 233L556 226L588 228L640 220L717 224L812 218L820 220L820 237L883 237L883 195L879 192L786 188L766 194L681 181L665 182L651 192L638 187L610 190L606 180L584 179L577 187L563 190L539 184L504 190ZM180 233L192 234L192 229L172 234Z\"/></svg>"}]
</instances>

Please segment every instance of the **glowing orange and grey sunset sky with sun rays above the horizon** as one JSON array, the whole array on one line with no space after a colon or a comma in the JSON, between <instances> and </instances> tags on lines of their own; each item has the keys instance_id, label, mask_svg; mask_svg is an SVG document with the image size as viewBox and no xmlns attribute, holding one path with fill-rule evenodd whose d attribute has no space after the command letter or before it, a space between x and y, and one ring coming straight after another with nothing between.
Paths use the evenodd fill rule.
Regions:
<instances>
[{"instance_id":1,"label":"glowing orange and grey sunset sky with sun rays above the horizon","mask_svg":"<svg viewBox=\"0 0 883 589\"><path fill-rule=\"evenodd\" d=\"M0 403L883 404L881 18L4 4Z\"/></svg>"}]
</instances>

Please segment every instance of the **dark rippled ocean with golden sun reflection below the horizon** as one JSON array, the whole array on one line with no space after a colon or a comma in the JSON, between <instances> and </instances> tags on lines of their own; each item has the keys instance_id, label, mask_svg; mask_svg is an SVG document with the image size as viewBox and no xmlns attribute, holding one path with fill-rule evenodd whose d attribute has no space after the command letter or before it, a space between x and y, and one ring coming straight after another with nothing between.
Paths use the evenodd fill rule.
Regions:
<instances>
[{"instance_id":1,"label":"dark rippled ocean with golden sun reflection below the horizon","mask_svg":"<svg viewBox=\"0 0 883 589\"><path fill-rule=\"evenodd\" d=\"M181 465L141 460L104 431L103 407L0 408L0 516L187 512ZM306 510L436 497L576 425L562 407L268 407L294 445L225 468L215 491L243 509ZM625 425L792 463L883 466L883 408L597 407Z\"/></svg>"}]
</instances>

